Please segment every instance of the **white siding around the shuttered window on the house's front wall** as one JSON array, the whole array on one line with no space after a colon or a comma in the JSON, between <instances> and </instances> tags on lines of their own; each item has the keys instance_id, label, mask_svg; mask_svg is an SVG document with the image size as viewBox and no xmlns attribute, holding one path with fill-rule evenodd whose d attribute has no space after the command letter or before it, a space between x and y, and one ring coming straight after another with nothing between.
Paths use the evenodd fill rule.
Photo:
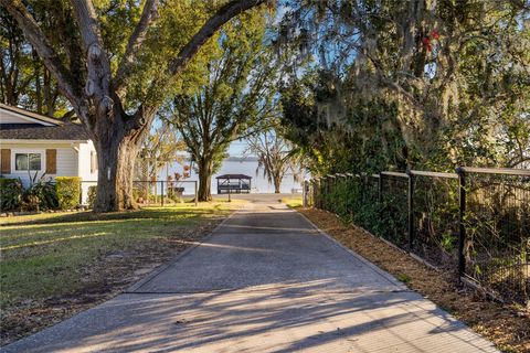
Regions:
<instances>
[{"instance_id":1,"label":"white siding around the shuttered window on the house's front wall","mask_svg":"<svg viewBox=\"0 0 530 353\"><path fill-rule=\"evenodd\" d=\"M56 174L45 174L44 179L55 176L76 176L77 175L77 152L72 147L71 142L54 142L54 143L23 143L23 142L1 142L2 149L11 150L11 173L2 174L4 178L20 179L24 186L30 184L30 175L28 171L14 170L15 153L41 153L41 171L36 172L38 179L41 178L46 169L46 149L55 149L56 156ZM31 172L31 178L35 172Z\"/></svg>"}]
</instances>

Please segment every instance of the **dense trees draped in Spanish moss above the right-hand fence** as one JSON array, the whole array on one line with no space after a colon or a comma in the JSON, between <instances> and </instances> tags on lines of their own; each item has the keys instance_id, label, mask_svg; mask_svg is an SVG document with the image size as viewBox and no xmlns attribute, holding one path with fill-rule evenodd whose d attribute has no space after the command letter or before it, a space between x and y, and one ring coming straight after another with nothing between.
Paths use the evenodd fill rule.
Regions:
<instances>
[{"instance_id":1,"label":"dense trees draped in Spanish moss above the right-hand fence","mask_svg":"<svg viewBox=\"0 0 530 353\"><path fill-rule=\"evenodd\" d=\"M279 42L315 64L293 69L284 124L321 170L528 165L527 2L289 4Z\"/></svg>"}]
</instances>

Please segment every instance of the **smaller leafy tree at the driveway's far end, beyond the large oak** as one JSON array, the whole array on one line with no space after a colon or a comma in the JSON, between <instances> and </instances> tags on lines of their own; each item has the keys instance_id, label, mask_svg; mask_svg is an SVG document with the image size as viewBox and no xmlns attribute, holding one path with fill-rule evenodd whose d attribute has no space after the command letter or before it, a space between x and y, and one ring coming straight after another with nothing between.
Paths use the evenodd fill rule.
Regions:
<instances>
[{"instance_id":1,"label":"smaller leafy tree at the driveway's far end, beyond the large oak","mask_svg":"<svg viewBox=\"0 0 530 353\"><path fill-rule=\"evenodd\" d=\"M230 143L252 135L259 122L277 114L277 77L266 24L263 11L252 11L225 25L210 47L205 82L172 101L168 119L197 163L200 201L211 200L211 176Z\"/></svg>"}]
</instances>

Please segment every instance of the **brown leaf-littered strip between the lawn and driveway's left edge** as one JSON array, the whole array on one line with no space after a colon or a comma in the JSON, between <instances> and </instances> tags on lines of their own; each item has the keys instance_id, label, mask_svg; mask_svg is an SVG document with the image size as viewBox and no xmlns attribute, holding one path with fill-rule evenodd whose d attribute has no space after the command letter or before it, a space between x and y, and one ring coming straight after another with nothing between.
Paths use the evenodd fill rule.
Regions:
<instances>
[{"instance_id":1,"label":"brown leaf-littered strip between the lawn and driveway's left edge","mask_svg":"<svg viewBox=\"0 0 530 353\"><path fill-rule=\"evenodd\" d=\"M100 254L95 265L83 270L83 289L44 300L28 300L1 314L0 345L20 340L46 327L95 307L125 291L148 272L209 235L222 220L178 226L168 234L138 243L127 252Z\"/></svg>"}]
</instances>

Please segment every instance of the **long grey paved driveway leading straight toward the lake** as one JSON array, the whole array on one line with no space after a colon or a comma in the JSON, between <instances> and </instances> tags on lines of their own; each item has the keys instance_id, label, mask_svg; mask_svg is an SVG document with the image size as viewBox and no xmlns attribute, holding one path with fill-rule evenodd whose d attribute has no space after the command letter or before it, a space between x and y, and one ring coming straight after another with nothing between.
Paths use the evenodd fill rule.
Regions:
<instances>
[{"instance_id":1,"label":"long grey paved driveway leading straight toward the lake","mask_svg":"<svg viewBox=\"0 0 530 353\"><path fill-rule=\"evenodd\" d=\"M496 352L279 204L251 204L128 293L1 351Z\"/></svg>"}]
</instances>

